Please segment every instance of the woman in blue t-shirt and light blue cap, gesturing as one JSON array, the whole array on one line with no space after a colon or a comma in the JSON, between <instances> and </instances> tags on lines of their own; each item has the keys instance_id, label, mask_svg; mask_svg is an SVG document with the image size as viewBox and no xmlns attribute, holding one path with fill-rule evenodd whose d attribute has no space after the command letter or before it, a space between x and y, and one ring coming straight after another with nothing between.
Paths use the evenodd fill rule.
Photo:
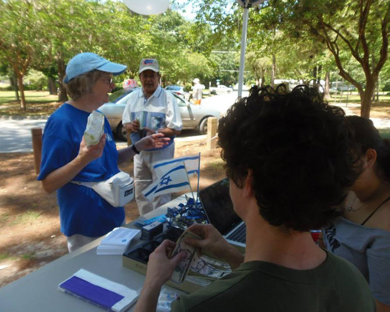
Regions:
<instances>
[{"instance_id":1,"label":"woman in blue t-shirt and light blue cap, gesturing","mask_svg":"<svg viewBox=\"0 0 390 312\"><path fill-rule=\"evenodd\" d=\"M125 69L125 65L94 53L73 57L63 79L71 100L63 103L45 125L38 180L46 192L57 191L61 232L67 236L70 252L125 223L123 207L114 207L91 188L71 181L107 180L119 172L118 164L135 153L163 147L169 141L156 133L117 151L105 118L100 142L89 147L85 144L88 116L109 101L108 93L115 87L112 77Z\"/></svg>"}]
</instances>

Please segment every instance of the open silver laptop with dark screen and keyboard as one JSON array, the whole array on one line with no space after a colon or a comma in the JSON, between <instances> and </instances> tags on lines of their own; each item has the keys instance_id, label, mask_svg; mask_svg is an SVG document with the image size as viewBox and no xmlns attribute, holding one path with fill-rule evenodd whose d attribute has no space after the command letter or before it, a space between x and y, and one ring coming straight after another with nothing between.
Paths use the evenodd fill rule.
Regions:
<instances>
[{"instance_id":1,"label":"open silver laptop with dark screen and keyboard","mask_svg":"<svg viewBox=\"0 0 390 312\"><path fill-rule=\"evenodd\" d=\"M229 179L220 180L199 192L209 222L231 244L245 247L245 223L233 210L229 195Z\"/></svg>"}]
</instances>

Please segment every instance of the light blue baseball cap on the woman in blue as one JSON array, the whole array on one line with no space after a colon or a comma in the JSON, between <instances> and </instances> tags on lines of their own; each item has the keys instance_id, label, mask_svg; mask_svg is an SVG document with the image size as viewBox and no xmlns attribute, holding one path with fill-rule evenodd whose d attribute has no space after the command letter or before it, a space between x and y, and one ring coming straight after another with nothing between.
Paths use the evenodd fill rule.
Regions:
<instances>
[{"instance_id":1,"label":"light blue baseball cap on the woman in blue","mask_svg":"<svg viewBox=\"0 0 390 312\"><path fill-rule=\"evenodd\" d=\"M69 61L66 69L67 76L63 81L68 83L73 78L93 70L112 73L114 76L117 76L122 74L126 68L126 65L110 62L108 59L95 53L79 53Z\"/></svg>"}]
</instances>

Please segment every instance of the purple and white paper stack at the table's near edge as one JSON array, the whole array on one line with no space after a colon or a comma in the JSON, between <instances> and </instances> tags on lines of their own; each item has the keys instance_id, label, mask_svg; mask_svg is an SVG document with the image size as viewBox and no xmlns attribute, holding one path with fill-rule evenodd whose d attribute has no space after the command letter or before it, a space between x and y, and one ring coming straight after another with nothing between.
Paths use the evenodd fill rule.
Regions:
<instances>
[{"instance_id":1,"label":"purple and white paper stack at the table's near edge","mask_svg":"<svg viewBox=\"0 0 390 312\"><path fill-rule=\"evenodd\" d=\"M139 291L114 283L84 269L58 285L58 290L109 311L123 312L137 301Z\"/></svg>"}]
</instances>

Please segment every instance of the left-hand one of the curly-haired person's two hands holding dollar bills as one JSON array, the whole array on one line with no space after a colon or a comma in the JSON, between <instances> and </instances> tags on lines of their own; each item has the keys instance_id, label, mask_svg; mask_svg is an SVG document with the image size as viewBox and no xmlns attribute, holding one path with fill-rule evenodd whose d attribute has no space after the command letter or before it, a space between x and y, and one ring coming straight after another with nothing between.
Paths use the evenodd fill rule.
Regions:
<instances>
[{"instance_id":1,"label":"left-hand one of the curly-haired person's two hands holding dollar bills","mask_svg":"<svg viewBox=\"0 0 390 312\"><path fill-rule=\"evenodd\" d=\"M150 254L145 285L153 284L161 287L171 278L173 270L185 257L185 253L181 252L172 259L168 258L168 254L175 249L175 246L173 241L166 239Z\"/></svg>"}]
</instances>

